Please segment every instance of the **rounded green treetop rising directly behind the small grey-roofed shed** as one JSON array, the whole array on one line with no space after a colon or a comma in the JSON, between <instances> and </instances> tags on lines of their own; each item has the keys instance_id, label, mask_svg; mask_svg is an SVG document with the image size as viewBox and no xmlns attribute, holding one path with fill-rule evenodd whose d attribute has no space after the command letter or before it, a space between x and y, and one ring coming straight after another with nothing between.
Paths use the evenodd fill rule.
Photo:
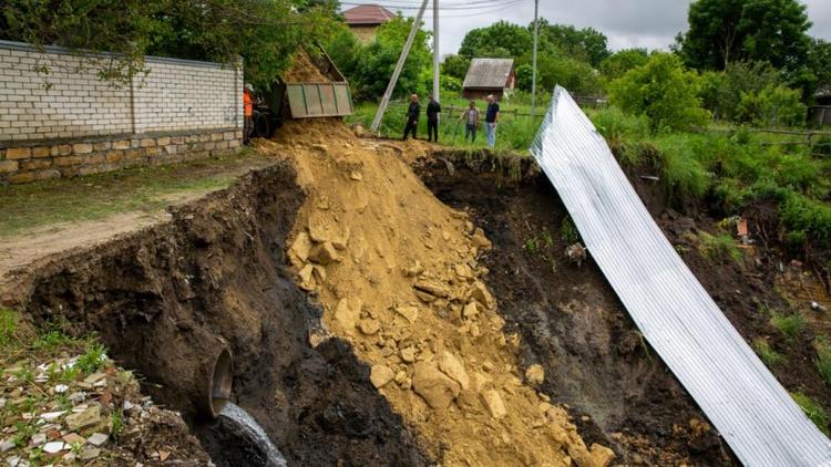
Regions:
<instances>
[{"instance_id":1,"label":"rounded green treetop rising directly behind the small grey-roofed shed","mask_svg":"<svg viewBox=\"0 0 831 467\"><path fill-rule=\"evenodd\" d=\"M531 44L531 32L526 28L507 21L497 21L486 28L468 32L459 48L459 54L468 59L515 59L530 53Z\"/></svg>"}]
</instances>

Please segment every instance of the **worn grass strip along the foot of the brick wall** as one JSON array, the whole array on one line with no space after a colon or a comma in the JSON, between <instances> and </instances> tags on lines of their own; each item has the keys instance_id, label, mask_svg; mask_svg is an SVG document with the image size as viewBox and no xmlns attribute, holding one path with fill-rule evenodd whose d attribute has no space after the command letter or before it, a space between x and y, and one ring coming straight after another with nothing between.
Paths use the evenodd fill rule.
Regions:
<instances>
[{"instance_id":1,"label":"worn grass strip along the foot of the brick wall","mask_svg":"<svg viewBox=\"0 0 831 467\"><path fill-rule=\"evenodd\" d=\"M172 197L228 186L253 160L254 154L246 153L0 186L0 237L57 222L98 220L117 212L156 211L170 205Z\"/></svg>"}]
</instances>

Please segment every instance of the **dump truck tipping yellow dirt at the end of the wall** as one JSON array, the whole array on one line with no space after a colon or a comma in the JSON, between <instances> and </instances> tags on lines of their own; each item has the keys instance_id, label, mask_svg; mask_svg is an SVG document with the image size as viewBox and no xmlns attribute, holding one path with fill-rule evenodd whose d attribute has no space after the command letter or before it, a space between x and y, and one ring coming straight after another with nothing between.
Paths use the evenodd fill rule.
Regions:
<instances>
[{"instance_id":1,"label":"dump truck tipping yellow dirt at the end of the wall","mask_svg":"<svg viewBox=\"0 0 831 467\"><path fill-rule=\"evenodd\" d=\"M257 95L253 137L270 138L286 118L351 115L349 83L322 48L316 56L305 51L270 89Z\"/></svg>"}]
</instances>

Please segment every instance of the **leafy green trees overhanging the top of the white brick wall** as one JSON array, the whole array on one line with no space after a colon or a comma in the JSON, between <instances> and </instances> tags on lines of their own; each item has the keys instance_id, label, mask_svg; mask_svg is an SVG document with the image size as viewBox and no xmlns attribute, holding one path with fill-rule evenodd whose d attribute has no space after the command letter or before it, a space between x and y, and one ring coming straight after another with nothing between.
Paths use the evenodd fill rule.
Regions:
<instances>
[{"instance_id":1,"label":"leafy green trees overhanging the top of the white brick wall","mask_svg":"<svg viewBox=\"0 0 831 467\"><path fill-rule=\"evenodd\" d=\"M329 6L293 0L7 0L0 39L116 52L102 77L127 81L145 54L236 63L268 85L300 44L328 37ZM90 59L92 60L92 59ZM47 64L48 66L48 64Z\"/></svg>"}]
</instances>

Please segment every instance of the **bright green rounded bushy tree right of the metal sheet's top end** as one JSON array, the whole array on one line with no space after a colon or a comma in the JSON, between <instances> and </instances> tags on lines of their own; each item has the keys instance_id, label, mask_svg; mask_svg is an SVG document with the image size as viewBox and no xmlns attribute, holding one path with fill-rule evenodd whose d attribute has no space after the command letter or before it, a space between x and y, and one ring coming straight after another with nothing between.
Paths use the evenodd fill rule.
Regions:
<instances>
[{"instance_id":1,"label":"bright green rounded bushy tree right of the metal sheet's top end","mask_svg":"<svg viewBox=\"0 0 831 467\"><path fill-rule=\"evenodd\" d=\"M707 122L698 97L698 75L671 53L655 53L611 84L609 100L624 112L645 115L653 132L687 129Z\"/></svg>"}]
</instances>

